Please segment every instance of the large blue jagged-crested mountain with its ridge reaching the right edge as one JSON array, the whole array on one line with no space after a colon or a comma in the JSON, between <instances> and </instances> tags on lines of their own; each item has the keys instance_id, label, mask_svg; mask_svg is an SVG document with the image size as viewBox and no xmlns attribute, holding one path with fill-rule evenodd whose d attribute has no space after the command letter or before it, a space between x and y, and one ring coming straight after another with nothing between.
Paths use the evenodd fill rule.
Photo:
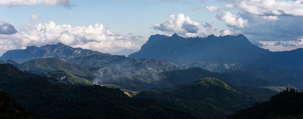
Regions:
<instances>
[{"instance_id":1,"label":"large blue jagged-crested mountain with its ridge reaching the right edge","mask_svg":"<svg viewBox=\"0 0 303 119\"><path fill-rule=\"evenodd\" d=\"M156 34L148 39L139 52L128 57L172 62L190 60L267 63L303 67L303 49L271 52L251 44L242 34L220 37L209 35L206 38L183 38L177 34L169 37Z\"/></svg>"}]
</instances>

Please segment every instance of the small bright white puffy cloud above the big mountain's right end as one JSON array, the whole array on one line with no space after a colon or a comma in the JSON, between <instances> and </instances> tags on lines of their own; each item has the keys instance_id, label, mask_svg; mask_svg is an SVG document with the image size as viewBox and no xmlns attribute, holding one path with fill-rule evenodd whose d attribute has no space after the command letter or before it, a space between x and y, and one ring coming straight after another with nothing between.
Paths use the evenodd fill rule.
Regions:
<instances>
[{"instance_id":1,"label":"small bright white puffy cloud above the big mountain's right end","mask_svg":"<svg viewBox=\"0 0 303 119\"><path fill-rule=\"evenodd\" d=\"M229 11L222 11L222 14L217 14L217 19L224 21L226 25L243 28L247 25L247 19L242 19L239 15L233 15Z\"/></svg>"}]
</instances>

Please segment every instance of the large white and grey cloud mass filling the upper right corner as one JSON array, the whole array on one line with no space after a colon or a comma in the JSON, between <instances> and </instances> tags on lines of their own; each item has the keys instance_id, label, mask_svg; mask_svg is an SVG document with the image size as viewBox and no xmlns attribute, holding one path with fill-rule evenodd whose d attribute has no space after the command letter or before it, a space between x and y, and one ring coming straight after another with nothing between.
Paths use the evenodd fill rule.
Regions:
<instances>
[{"instance_id":1,"label":"large white and grey cloud mass filling the upper right corner","mask_svg":"<svg viewBox=\"0 0 303 119\"><path fill-rule=\"evenodd\" d=\"M303 0L222 0L222 6L206 6L228 29L221 34L243 33L255 45L272 51L303 48ZM232 14L230 10L239 11ZM293 42L291 42L293 41ZM300 42L298 42L300 41Z\"/></svg>"}]
</instances>

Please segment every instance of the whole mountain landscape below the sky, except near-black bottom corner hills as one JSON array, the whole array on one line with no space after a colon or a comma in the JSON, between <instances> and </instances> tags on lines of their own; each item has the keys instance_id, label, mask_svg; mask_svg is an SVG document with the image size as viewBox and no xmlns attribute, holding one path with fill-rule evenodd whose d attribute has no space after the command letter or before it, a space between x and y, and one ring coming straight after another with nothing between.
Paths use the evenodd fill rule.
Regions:
<instances>
[{"instance_id":1,"label":"whole mountain landscape below the sky, except near-black bottom corner hills","mask_svg":"<svg viewBox=\"0 0 303 119\"><path fill-rule=\"evenodd\" d=\"M0 90L43 119L223 119L303 88L301 54L270 52L243 35L153 35L128 58L61 43L29 46L0 57Z\"/></svg>"}]
</instances>

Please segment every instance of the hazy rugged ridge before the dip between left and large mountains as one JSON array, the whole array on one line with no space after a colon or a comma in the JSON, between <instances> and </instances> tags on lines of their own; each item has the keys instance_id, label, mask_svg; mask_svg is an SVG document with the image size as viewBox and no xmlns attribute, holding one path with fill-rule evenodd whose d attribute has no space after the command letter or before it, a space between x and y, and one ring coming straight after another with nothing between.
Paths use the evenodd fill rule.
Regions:
<instances>
[{"instance_id":1,"label":"hazy rugged ridge before the dip between left and large mountains","mask_svg":"<svg viewBox=\"0 0 303 119\"><path fill-rule=\"evenodd\" d=\"M88 57L78 57L67 61L81 65L117 68L124 70L129 74L148 74L179 68L179 66L177 66L176 64L170 63L165 60L137 60L134 58L126 58L125 56L109 54L96 54Z\"/></svg>"}]
</instances>

